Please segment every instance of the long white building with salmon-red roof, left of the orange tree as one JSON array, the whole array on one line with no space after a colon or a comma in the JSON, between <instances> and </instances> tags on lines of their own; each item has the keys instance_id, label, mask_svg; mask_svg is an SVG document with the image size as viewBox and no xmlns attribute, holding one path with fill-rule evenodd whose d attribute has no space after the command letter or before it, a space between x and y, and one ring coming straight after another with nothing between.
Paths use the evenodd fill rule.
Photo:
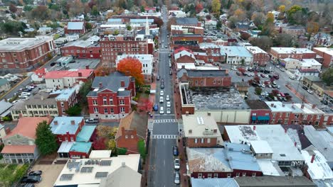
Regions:
<instances>
[{"instance_id":1,"label":"long white building with salmon-red roof, left of the orange tree","mask_svg":"<svg viewBox=\"0 0 333 187\"><path fill-rule=\"evenodd\" d=\"M46 72L45 83L48 89L64 89L94 78L93 69L69 69Z\"/></svg>"}]
</instances>

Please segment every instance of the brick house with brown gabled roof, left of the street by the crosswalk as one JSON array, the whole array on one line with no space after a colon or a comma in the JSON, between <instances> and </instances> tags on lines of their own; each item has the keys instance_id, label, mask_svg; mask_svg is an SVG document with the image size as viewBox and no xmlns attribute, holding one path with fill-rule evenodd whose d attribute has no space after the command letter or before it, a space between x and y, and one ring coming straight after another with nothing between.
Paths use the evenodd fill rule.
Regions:
<instances>
[{"instance_id":1,"label":"brick house with brown gabled roof, left of the street by the crosswalk","mask_svg":"<svg viewBox=\"0 0 333 187\"><path fill-rule=\"evenodd\" d=\"M117 147L127 149L127 154L139 152L137 148L139 140L147 142L147 123L147 114L139 114L136 111L122 118L115 135Z\"/></svg>"}]
</instances>

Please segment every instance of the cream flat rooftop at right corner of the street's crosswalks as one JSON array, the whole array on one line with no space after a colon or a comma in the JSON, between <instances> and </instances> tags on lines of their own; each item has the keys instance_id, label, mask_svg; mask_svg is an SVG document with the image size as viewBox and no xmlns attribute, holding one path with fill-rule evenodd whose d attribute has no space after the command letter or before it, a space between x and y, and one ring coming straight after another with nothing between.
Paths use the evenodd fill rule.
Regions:
<instances>
[{"instance_id":1,"label":"cream flat rooftop at right corner of the street's crosswalks","mask_svg":"<svg viewBox=\"0 0 333 187\"><path fill-rule=\"evenodd\" d=\"M218 125L211 115L182 115L185 137L217 137L223 143Z\"/></svg>"}]
</instances>

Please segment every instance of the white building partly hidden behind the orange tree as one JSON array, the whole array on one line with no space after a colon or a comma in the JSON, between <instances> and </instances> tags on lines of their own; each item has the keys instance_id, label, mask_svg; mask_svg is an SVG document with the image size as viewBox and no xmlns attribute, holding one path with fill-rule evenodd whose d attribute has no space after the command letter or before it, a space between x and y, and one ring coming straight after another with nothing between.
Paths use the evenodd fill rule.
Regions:
<instances>
[{"instance_id":1,"label":"white building partly hidden behind the orange tree","mask_svg":"<svg viewBox=\"0 0 333 187\"><path fill-rule=\"evenodd\" d=\"M142 74L144 75L144 81L147 83L152 82L152 75L154 72L153 68L153 55L118 55L116 60L116 66L119 64L120 60L126 58L126 57L132 57L137 60L139 60L142 64Z\"/></svg>"}]
</instances>

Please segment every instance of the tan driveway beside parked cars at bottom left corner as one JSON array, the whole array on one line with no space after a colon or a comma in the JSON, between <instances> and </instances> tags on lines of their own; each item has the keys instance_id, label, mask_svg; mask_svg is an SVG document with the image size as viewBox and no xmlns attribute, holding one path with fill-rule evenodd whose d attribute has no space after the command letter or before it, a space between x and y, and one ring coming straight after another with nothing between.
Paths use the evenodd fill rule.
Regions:
<instances>
[{"instance_id":1,"label":"tan driveway beside parked cars at bottom left corner","mask_svg":"<svg viewBox=\"0 0 333 187\"><path fill-rule=\"evenodd\" d=\"M35 186L37 187L53 186L53 184L58 179L60 172L63 170L64 166L65 164L51 164L51 165L36 164L35 166L33 166L33 169L31 171L34 170L43 171L42 181L40 183L36 183Z\"/></svg>"}]
</instances>

